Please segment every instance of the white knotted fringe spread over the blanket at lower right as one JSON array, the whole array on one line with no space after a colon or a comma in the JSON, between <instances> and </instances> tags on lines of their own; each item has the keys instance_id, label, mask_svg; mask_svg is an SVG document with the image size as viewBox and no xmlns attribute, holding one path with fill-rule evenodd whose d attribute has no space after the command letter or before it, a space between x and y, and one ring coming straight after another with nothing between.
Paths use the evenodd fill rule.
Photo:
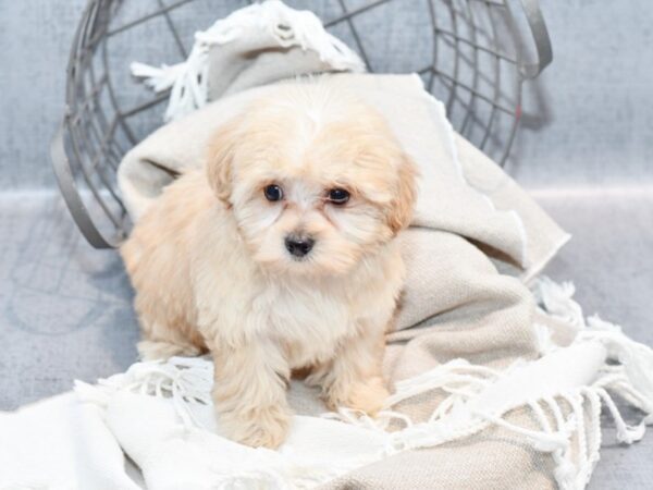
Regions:
<instances>
[{"instance_id":1,"label":"white knotted fringe spread over the blanket at lower right","mask_svg":"<svg viewBox=\"0 0 653 490\"><path fill-rule=\"evenodd\" d=\"M619 327L596 316L586 321L581 307L572 299L574 292L570 282L557 284L549 278L542 278L535 283L534 294L546 314L578 330L574 344L599 341L607 350L608 360L619 364L606 363L589 387L529 401L527 405L538 420L539 430L508 422L505 416L510 411L492 414L464 409L466 403L484 388L522 365L516 364L506 371L495 371L472 366L463 359L397 383L395 394L387 401L389 409L381 412L375 419L346 408L330 414L330 417L377 430L385 430L393 419L398 420L405 428L390 434L387 454L433 448L473 436L490 426L498 426L521 436L535 451L551 453L556 464L554 477L560 489L586 488L600 458L602 406L612 415L616 438L621 443L632 444L641 440L646 425L653 424L653 350L628 339ZM552 344L544 332L538 332L538 335L545 336L541 340L549 343L550 352L565 348ZM427 422L414 424L407 416L390 409L404 400L432 390L442 390L448 396L439 404ZM642 420L634 426L627 424L613 395L643 412L645 415ZM567 417L563 415L564 404L570 407ZM574 444L576 451L572 451Z\"/></svg>"}]
</instances>

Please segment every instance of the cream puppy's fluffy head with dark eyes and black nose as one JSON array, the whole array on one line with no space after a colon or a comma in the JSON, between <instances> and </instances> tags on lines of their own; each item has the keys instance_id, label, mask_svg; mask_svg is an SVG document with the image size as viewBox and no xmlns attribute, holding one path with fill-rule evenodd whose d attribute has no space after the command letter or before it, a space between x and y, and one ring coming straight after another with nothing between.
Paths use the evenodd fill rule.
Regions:
<instances>
[{"instance_id":1,"label":"cream puppy's fluffy head with dark eyes and black nose","mask_svg":"<svg viewBox=\"0 0 653 490\"><path fill-rule=\"evenodd\" d=\"M221 128L209 182L262 267L346 274L408 224L415 168L367 106L320 87L287 91Z\"/></svg>"}]
</instances>

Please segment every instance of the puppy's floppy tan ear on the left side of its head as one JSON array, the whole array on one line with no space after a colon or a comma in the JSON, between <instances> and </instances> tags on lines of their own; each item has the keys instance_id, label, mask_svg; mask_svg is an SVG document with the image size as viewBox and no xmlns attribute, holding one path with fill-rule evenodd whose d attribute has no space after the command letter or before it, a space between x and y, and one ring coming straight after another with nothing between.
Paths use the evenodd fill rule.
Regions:
<instances>
[{"instance_id":1,"label":"puppy's floppy tan ear on the left side of its head","mask_svg":"<svg viewBox=\"0 0 653 490\"><path fill-rule=\"evenodd\" d=\"M211 137L207 154L207 177L215 196L231 207L232 166L236 147L237 122L222 125Z\"/></svg>"}]
</instances>

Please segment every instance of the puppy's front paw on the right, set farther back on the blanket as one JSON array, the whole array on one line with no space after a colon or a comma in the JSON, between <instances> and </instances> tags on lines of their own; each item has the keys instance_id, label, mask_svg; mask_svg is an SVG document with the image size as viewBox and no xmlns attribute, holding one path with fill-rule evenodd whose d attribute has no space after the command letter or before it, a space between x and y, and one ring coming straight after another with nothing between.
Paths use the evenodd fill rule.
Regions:
<instances>
[{"instance_id":1,"label":"puppy's front paw on the right, set farther back on the blanket","mask_svg":"<svg viewBox=\"0 0 653 490\"><path fill-rule=\"evenodd\" d=\"M390 396L381 377L334 385L326 392L326 405L331 409L346 406L375 415Z\"/></svg>"}]
</instances>

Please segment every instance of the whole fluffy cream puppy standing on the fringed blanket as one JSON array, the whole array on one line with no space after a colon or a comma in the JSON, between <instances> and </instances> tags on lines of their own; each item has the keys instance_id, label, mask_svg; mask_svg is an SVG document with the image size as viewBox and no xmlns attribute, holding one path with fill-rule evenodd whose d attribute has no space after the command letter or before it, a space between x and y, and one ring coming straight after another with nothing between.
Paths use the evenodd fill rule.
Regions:
<instances>
[{"instance_id":1,"label":"whole fluffy cream puppy standing on the fringed blanket","mask_svg":"<svg viewBox=\"0 0 653 490\"><path fill-rule=\"evenodd\" d=\"M331 408L375 413L415 180L383 118L347 94L313 82L257 100L121 249L140 354L210 351L221 432L244 444L283 442L294 370Z\"/></svg>"}]
</instances>

